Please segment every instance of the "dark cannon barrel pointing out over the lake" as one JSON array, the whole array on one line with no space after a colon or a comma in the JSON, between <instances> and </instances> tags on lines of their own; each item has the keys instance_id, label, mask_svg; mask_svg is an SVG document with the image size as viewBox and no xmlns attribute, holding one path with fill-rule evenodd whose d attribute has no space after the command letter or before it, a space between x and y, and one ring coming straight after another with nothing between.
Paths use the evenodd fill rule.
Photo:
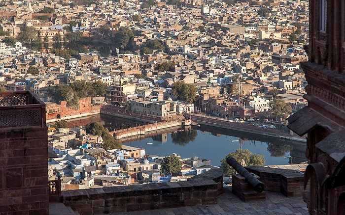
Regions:
<instances>
[{"instance_id":1,"label":"dark cannon barrel pointing out over the lake","mask_svg":"<svg viewBox=\"0 0 345 215\"><path fill-rule=\"evenodd\" d=\"M251 173L249 173L241 164L233 157L229 156L226 162L235 169L240 175L242 175L248 182L248 184L254 188L256 192L262 192L265 189L265 185L257 180Z\"/></svg>"}]
</instances>

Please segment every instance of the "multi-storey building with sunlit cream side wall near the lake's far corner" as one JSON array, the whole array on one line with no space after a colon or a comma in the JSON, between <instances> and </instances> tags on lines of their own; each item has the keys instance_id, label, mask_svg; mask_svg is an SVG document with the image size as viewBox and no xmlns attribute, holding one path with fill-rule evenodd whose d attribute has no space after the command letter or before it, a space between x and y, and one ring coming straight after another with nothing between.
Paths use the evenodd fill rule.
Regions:
<instances>
[{"instance_id":1,"label":"multi-storey building with sunlit cream side wall near the lake's far corner","mask_svg":"<svg viewBox=\"0 0 345 215\"><path fill-rule=\"evenodd\" d=\"M135 83L112 85L106 89L106 100L111 105L122 106L127 101L127 96L134 95Z\"/></svg>"}]
</instances>

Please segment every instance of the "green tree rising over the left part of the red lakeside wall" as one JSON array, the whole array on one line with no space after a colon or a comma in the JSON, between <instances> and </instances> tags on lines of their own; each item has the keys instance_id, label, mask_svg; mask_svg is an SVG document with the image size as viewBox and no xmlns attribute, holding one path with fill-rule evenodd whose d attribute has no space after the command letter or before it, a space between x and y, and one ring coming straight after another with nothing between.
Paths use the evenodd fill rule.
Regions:
<instances>
[{"instance_id":1,"label":"green tree rising over the left part of the red lakeside wall","mask_svg":"<svg viewBox=\"0 0 345 215\"><path fill-rule=\"evenodd\" d=\"M79 97L70 86L60 83L50 93L57 102L67 101L69 108L79 109Z\"/></svg>"}]
</instances>

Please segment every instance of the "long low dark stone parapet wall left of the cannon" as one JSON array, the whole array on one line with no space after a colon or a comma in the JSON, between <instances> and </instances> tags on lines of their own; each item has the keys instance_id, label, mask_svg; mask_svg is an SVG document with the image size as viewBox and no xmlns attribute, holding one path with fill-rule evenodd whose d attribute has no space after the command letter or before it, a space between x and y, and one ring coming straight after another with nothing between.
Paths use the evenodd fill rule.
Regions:
<instances>
[{"instance_id":1,"label":"long low dark stone parapet wall left of the cannon","mask_svg":"<svg viewBox=\"0 0 345 215\"><path fill-rule=\"evenodd\" d=\"M221 169L210 170L184 182L62 191L64 204L80 215L216 204L221 193Z\"/></svg>"}]
</instances>

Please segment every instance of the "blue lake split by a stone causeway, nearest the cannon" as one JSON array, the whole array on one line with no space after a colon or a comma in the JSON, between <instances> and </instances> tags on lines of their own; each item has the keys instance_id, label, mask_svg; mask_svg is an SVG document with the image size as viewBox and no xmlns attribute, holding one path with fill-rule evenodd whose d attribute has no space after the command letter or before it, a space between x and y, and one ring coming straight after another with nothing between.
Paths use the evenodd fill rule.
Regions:
<instances>
[{"instance_id":1,"label":"blue lake split by a stone causeway, nearest the cannon","mask_svg":"<svg viewBox=\"0 0 345 215\"><path fill-rule=\"evenodd\" d=\"M109 115L95 115L69 122L69 127L85 126L99 122L109 131L143 125L143 122L117 118ZM187 129L188 130L188 129ZM146 144L153 143L152 145ZM188 131L176 130L173 133L146 137L141 140L123 142L124 145L145 148L146 154L169 156L176 153L181 158L200 157L211 160L211 165L220 166L220 160L237 149L248 149L265 156L265 165L301 163L306 160L306 143L278 139L258 134L248 134L227 129L201 125L192 126ZM291 158L284 158L290 157Z\"/></svg>"}]
</instances>

